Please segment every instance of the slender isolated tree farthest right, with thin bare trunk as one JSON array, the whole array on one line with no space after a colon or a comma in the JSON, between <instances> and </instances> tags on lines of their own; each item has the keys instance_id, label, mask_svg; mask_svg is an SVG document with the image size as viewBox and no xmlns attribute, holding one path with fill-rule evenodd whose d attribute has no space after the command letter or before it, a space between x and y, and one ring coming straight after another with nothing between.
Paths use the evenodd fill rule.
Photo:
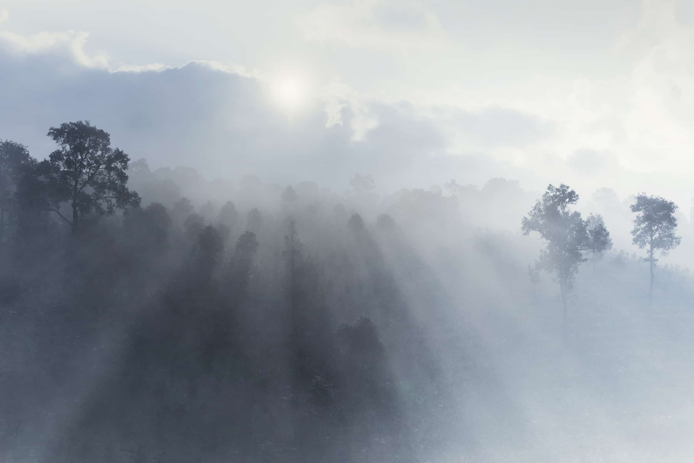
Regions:
<instances>
[{"instance_id":1,"label":"slender isolated tree farthest right, with thin bare trunk","mask_svg":"<svg viewBox=\"0 0 694 463\"><path fill-rule=\"evenodd\" d=\"M660 251L661 256L677 247L682 238L675 235L677 218L675 211L677 204L660 196L648 196L639 193L636 202L631 206L632 212L636 212L634 229L632 229L632 243L639 249L646 248L648 256L643 258L650 268L650 286L648 288L648 302L653 301L653 271L658 259L655 253Z\"/></svg>"}]
</instances>

